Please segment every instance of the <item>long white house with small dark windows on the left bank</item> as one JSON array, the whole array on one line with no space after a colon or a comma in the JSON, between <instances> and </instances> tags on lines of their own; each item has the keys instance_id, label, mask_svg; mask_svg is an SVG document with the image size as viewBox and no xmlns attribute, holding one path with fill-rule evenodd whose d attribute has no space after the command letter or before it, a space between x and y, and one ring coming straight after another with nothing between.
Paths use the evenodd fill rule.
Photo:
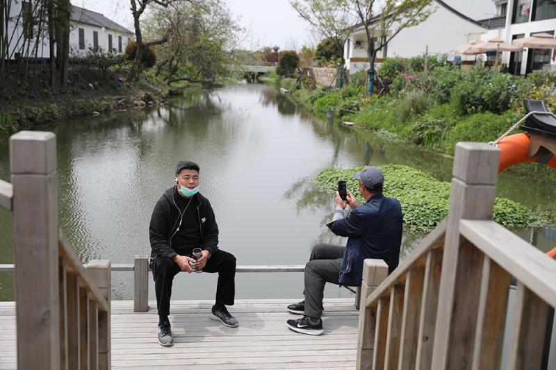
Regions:
<instances>
[{"instance_id":1,"label":"long white house with small dark windows on the left bank","mask_svg":"<svg viewBox=\"0 0 556 370\"><path fill-rule=\"evenodd\" d=\"M40 14L39 0L14 1L10 8L8 24L9 43L8 59L36 58L48 59L49 37L47 22L42 28L33 22ZM2 26L2 25L0 25ZM37 35L40 37L37 37ZM12 37L13 35L13 37ZM122 53L134 33L120 24L111 21L98 12L72 6L70 16L70 56L85 56L88 49L99 48ZM0 40L0 42L2 42Z\"/></svg>"}]
</instances>

